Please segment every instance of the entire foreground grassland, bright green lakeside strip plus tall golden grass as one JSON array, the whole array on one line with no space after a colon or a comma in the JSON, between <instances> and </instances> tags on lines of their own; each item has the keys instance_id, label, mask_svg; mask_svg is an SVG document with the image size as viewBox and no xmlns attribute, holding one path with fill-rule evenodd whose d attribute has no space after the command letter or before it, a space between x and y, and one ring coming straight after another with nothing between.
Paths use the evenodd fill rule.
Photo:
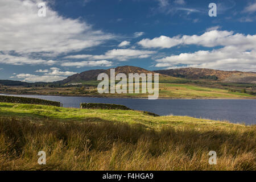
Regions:
<instances>
[{"instance_id":1,"label":"entire foreground grassland, bright green lakeside strip plus tall golden grass","mask_svg":"<svg viewBox=\"0 0 256 182\"><path fill-rule=\"evenodd\" d=\"M0 103L0 169L255 170L255 129L132 110ZM208 163L211 150L217 165Z\"/></svg>"}]
</instances>

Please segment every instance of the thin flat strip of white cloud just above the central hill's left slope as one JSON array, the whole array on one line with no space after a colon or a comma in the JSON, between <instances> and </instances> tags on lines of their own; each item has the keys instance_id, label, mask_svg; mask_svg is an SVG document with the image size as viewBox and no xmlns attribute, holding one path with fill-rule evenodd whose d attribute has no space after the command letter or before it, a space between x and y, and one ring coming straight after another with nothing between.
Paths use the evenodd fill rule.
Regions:
<instances>
[{"instance_id":1,"label":"thin flat strip of white cloud just above the central hill's left slope","mask_svg":"<svg viewBox=\"0 0 256 182\"><path fill-rule=\"evenodd\" d=\"M100 61L80 61L80 62L66 62L62 63L63 67L111 67L113 64L112 61L100 60Z\"/></svg>"}]
</instances>

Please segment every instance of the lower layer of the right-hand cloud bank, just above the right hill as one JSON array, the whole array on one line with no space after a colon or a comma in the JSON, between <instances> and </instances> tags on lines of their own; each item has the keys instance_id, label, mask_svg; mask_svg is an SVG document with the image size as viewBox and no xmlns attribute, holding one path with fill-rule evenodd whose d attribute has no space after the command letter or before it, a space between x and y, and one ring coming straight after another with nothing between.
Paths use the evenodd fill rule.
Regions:
<instances>
[{"instance_id":1,"label":"lower layer of the right-hand cloud bank, just above the right hill","mask_svg":"<svg viewBox=\"0 0 256 182\"><path fill-rule=\"evenodd\" d=\"M245 51L237 47L224 47L212 51L197 51L194 53L180 53L156 60L156 67L183 67L212 68L221 70L256 70L256 51Z\"/></svg>"}]
</instances>

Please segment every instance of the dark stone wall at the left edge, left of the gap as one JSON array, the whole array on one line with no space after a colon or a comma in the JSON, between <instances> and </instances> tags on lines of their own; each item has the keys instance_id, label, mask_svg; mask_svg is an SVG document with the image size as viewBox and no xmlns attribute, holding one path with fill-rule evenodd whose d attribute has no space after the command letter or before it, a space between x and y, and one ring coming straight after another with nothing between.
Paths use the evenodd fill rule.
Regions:
<instances>
[{"instance_id":1,"label":"dark stone wall at the left edge, left of the gap","mask_svg":"<svg viewBox=\"0 0 256 182\"><path fill-rule=\"evenodd\" d=\"M13 96L0 96L0 102L10 102L17 104L40 104L40 105L50 105L59 106L60 102L48 101L39 98L28 98L28 97L13 97Z\"/></svg>"}]
</instances>

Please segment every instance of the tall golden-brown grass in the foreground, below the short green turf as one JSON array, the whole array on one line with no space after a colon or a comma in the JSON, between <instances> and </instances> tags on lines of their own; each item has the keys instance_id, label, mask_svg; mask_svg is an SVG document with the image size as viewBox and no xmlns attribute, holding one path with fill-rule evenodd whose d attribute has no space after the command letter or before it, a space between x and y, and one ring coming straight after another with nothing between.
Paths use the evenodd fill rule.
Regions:
<instances>
[{"instance_id":1,"label":"tall golden-brown grass in the foreground, below the short green turf","mask_svg":"<svg viewBox=\"0 0 256 182\"><path fill-rule=\"evenodd\" d=\"M0 118L1 170L255 170L255 126L243 130ZM46 165L39 165L39 151ZM209 165L209 151L217 165Z\"/></svg>"}]
</instances>

